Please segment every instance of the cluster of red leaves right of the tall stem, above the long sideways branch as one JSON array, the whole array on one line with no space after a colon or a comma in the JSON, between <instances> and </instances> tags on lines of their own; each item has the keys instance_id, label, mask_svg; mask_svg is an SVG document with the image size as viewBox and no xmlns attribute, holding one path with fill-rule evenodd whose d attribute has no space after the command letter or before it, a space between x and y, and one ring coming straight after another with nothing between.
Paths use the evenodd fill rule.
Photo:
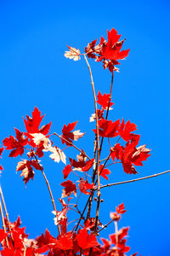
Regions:
<instances>
[{"instance_id":1,"label":"cluster of red leaves right of the tall stem, above the long sideways branch","mask_svg":"<svg viewBox=\"0 0 170 256\"><path fill-rule=\"evenodd\" d=\"M100 137L118 137L126 142L125 146L120 143L116 143L111 148L111 158L115 162L115 159L121 160L123 170L129 174L138 173L133 165L143 166L142 161L147 160L150 156L150 149L145 148L146 145L137 147L139 143L139 135L132 133L135 131L136 125L129 120L125 124L124 119L120 123L120 119L112 122L111 120L101 119L99 120L99 136ZM96 129L94 130L96 133ZM118 139L118 140L119 140Z\"/></svg>"}]
</instances>

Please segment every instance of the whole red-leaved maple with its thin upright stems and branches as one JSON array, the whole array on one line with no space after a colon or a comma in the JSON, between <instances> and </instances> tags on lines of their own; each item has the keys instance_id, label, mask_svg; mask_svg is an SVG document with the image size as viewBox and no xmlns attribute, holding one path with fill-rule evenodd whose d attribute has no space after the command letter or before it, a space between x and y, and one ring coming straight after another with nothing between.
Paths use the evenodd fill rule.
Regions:
<instances>
[{"instance_id":1,"label":"whole red-leaved maple with its thin upright stems and branches","mask_svg":"<svg viewBox=\"0 0 170 256\"><path fill-rule=\"evenodd\" d=\"M32 116L26 115L24 123L26 131L20 131L16 128L15 137L9 136L3 139L3 148L0 148L0 157L2 157L3 150L10 150L9 157L19 157L23 155L26 159L18 161L16 172L21 172L20 177L26 183L33 180L36 172L42 172L48 192L54 207L54 224L58 229L58 236L54 237L48 230L45 234L37 236L35 239L28 238L25 228L20 227L20 217L14 222L8 219L8 212L3 198L3 190L0 187L0 212L3 222L3 229L0 229L0 243L1 255L3 256L38 256L38 255L110 255L123 256L127 255L130 247L127 246L127 235L129 227L118 229L118 223L122 218L122 214L127 212L124 204L121 203L116 206L116 212L110 213L110 222L103 224L99 220L100 203L102 202L102 189L114 186L118 183L107 183L110 179L111 170L108 166L115 165L116 161L122 164L122 170L127 174L137 174L134 166L143 166L143 161L150 156L150 149L146 145L139 145L140 136L133 133L137 130L137 125L124 119L109 120L108 115L114 106L111 102L112 86L114 72L119 72L116 65L119 65L119 60L127 57L129 49L122 50L122 44L125 39L119 41L121 35L118 35L114 28L107 32L108 38L101 37L99 44L97 39L92 41L85 47L85 52L81 54L79 49L68 46L68 51L65 51L65 57L74 61L79 61L81 56L84 57L88 70L90 73L91 84L94 93L94 107L95 111L90 117L90 122L95 122L93 129L94 134L94 155L88 156L88 152L77 148L75 142L86 136L86 132L80 130L75 131L77 121L68 125L64 125L61 129L61 135L54 132L49 134L52 122L43 125L40 128L44 115L41 115L40 110L35 107L32 111ZM99 91L96 96L94 88L94 79L91 67L88 63L89 59L95 61L102 61L104 69L108 68L111 72L111 91L103 95ZM111 108L112 107L112 108ZM62 144L66 148L77 149L77 160L68 156L69 164L66 165L66 148L59 148L54 145L54 137L59 137ZM108 154L105 159L102 159L102 146L104 139L108 142ZM60 183L62 188L61 198L59 199L62 205L62 210L58 211L54 196L52 194L48 179L40 163L44 154L49 154L49 157L55 162L62 161L65 165L63 167L64 181ZM75 157L76 158L76 157ZM0 171L3 166L0 165ZM77 178L73 182L70 173L73 173ZM169 171L167 171L169 172ZM156 177L158 175L167 173L161 172L148 177L140 177L133 180L122 181L120 183L129 183L141 179ZM105 184L101 185L100 178L103 177ZM86 195L87 202L82 211L80 211L81 201L80 197ZM95 197L94 197L95 196ZM64 199L66 202L64 201ZM97 201L97 204L94 204ZM95 209L95 216L92 215L92 208ZM73 229L68 230L67 212L74 210L77 215L73 219ZM3 214L5 212L5 216ZM102 230L106 229L111 223L115 224L115 233L109 236L109 240L101 237ZM102 235L101 235L102 236ZM46 254L43 254L46 253ZM131 256L139 255L133 253Z\"/></svg>"}]
</instances>

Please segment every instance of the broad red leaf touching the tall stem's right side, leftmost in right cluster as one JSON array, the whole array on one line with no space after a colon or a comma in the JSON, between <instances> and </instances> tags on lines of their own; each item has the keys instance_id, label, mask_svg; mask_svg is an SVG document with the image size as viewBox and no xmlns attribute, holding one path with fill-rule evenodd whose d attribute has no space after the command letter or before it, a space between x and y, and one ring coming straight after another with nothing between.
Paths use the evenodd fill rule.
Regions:
<instances>
[{"instance_id":1,"label":"broad red leaf touching the tall stem's right side, leftmost in right cluster","mask_svg":"<svg viewBox=\"0 0 170 256\"><path fill-rule=\"evenodd\" d=\"M120 119L112 122L106 119L99 120L99 136L101 137L116 137L118 135L118 128ZM93 130L96 133L96 129Z\"/></svg>"}]
</instances>

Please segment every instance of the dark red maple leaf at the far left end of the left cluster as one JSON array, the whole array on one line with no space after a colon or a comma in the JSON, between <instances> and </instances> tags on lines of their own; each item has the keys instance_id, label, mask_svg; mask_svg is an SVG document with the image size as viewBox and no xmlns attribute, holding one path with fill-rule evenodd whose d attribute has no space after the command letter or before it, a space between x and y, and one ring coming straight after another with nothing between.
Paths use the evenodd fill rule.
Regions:
<instances>
[{"instance_id":1,"label":"dark red maple leaf at the far left end of the left cluster","mask_svg":"<svg viewBox=\"0 0 170 256\"><path fill-rule=\"evenodd\" d=\"M9 154L10 157L16 157L19 154L24 153L24 147L28 143L28 139L25 138L24 133L20 132L18 129L14 128L16 133L16 138L13 136L6 137L3 140L3 145L7 147L6 149L13 149Z\"/></svg>"}]
</instances>

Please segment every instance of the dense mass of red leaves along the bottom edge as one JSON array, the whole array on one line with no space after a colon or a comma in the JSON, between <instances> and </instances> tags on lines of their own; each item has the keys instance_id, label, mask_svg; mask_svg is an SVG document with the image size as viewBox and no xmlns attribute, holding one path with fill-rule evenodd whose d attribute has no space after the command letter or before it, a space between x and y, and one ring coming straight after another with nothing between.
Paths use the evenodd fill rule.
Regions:
<instances>
[{"instance_id":1,"label":"dense mass of red leaves along the bottom edge","mask_svg":"<svg viewBox=\"0 0 170 256\"><path fill-rule=\"evenodd\" d=\"M94 221L91 218L77 232L67 232L65 229L65 232L62 232L61 236L57 236L57 238L46 230L45 235L42 234L36 239L29 239L25 232L26 228L20 228L20 224L19 217L14 223L9 223L10 231L9 229L0 229L2 256L44 255L42 253L48 253L48 256L75 256L81 253L88 255L89 252L93 256L123 256L123 253L127 253L130 249L126 246L127 240L124 239L127 236L128 228L123 228L117 234L110 235L111 241L101 238L104 245L100 245L96 236L92 232L89 234L89 227L94 226ZM5 225L8 227L6 219ZM113 245L116 245L116 247L113 247Z\"/></svg>"}]
</instances>

